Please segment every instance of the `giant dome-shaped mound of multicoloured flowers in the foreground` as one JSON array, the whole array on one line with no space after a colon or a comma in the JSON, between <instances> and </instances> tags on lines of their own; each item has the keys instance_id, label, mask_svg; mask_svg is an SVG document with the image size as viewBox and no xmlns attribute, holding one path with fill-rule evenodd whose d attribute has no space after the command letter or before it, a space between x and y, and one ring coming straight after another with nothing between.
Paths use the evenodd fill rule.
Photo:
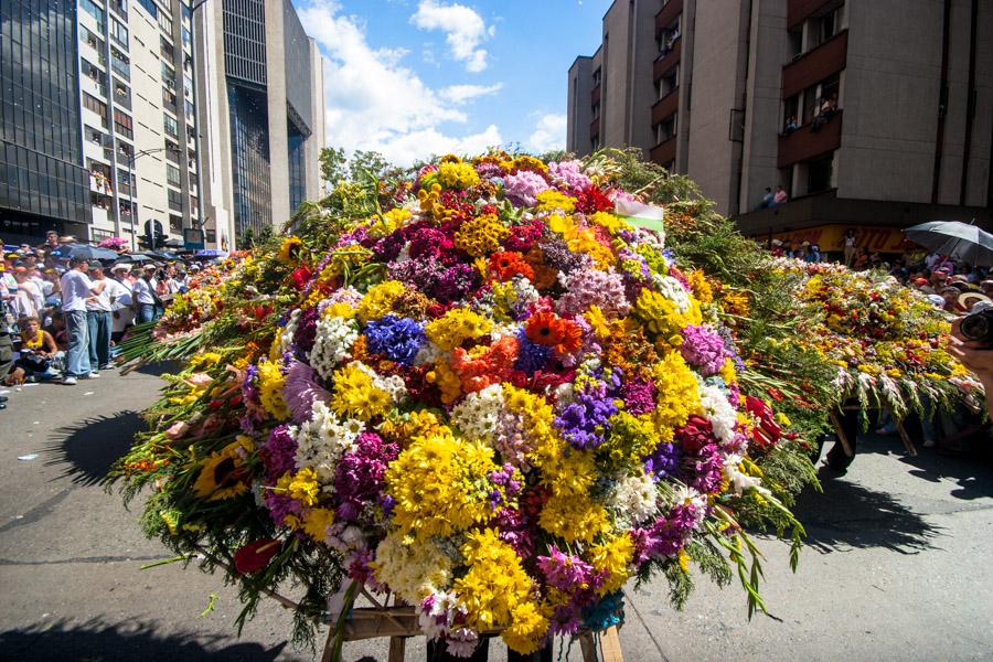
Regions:
<instances>
[{"instance_id":1,"label":"giant dome-shaped mound of multicoloured flowers in the foreground","mask_svg":"<svg viewBox=\"0 0 993 662\"><path fill-rule=\"evenodd\" d=\"M448 157L258 249L117 468L154 487L147 533L223 569L242 619L287 584L301 634L393 592L455 654L602 630L655 573L680 602L691 564L761 608L736 517L796 563L760 463L797 435L719 282L615 213L647 196L604 166Z\"/></svg>"}]
</instances>

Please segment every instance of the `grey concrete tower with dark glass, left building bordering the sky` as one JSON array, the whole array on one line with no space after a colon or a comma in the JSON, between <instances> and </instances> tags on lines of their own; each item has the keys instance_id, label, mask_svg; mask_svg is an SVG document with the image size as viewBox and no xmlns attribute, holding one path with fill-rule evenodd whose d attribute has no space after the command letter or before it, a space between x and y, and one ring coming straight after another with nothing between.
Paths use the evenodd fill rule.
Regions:
<instances>
[{"instance_id":1,"label":"grey concrete tower with dark glass, left building bordering the sky","mask_svg":"<svg viewBox=\"0 0 993 662\"><path fill-rule=\"evenodd\" d=\"M323 60L290 0L220 0L196 14L204 226L209 245L231 247L320 196Z\"/></svg>"}]
</instances>

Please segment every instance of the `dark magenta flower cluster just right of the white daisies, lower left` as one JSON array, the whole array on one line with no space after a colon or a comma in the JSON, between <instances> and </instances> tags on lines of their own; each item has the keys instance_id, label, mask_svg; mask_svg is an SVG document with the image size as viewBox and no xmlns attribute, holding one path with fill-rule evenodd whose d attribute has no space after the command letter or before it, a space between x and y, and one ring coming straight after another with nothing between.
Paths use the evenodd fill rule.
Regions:
<instances>
[{"instance_id":1,"label":"dark magenta flower cluster just right of the white daisies, lower left","mask_svg":"<svg viewBox=\"0 0 993 662\"><path fill-rule=\"evenodd\" d=\"M386 465L396 459L399 449L372 431L355 439L355 450L344 453L334 471L334 491L339 498L335 515L354 521L362 510L381 496Z\"/></svg>"}]
</instances>

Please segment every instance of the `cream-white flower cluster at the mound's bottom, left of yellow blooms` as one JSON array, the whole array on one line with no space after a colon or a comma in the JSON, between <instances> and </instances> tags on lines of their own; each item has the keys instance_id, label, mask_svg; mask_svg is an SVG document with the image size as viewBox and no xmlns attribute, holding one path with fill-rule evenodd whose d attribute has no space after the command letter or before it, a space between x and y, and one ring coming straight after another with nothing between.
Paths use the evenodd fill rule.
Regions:
<instances>
[{"instance_id":1,"label":"cream-white flower cluster at the mound's bottom, left of yellow blooms","mask_svg":"<svg viewBox=\"0 0 993 662\"><path fill-rule=\"evenodd\" d=\"M451 558L434 542L404 544L398 532L388 534L376 546L375 560L370 563L373 575L410 602L420 601L451 584Z\"/></svg>"}]
</instances>

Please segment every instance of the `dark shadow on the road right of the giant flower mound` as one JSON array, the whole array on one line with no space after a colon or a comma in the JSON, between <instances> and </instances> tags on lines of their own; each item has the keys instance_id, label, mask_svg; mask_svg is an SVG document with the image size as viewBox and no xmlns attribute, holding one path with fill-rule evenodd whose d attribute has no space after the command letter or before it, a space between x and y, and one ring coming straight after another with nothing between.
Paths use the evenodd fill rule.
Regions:
<instances>
[{"instance_id":1,"label":"dark shadow on the road right of the giant flower mound","mask_svg":"<svg viewBox=\"0 0 993 662\"><path fill-rule=\"evenodd\" d=\"M845 548L884 547L900 554L930 549L941 528L894 499L821 471L824 492L804 490L793 514L807 528L805 543L826 554Z\"/></svg>"}]
</instances>

